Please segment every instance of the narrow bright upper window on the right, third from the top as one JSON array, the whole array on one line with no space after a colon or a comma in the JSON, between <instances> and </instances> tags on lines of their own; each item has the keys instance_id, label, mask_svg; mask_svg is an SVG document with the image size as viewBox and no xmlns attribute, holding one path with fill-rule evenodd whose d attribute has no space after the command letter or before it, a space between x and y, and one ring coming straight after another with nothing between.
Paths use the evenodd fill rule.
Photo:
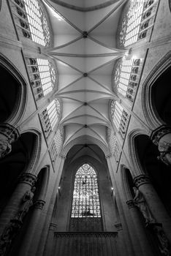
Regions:
<instances>
[{"instance_id":1,"label":"narrow bright upper window on the right, third from the top","mask_svg":"<svg viewBox=\"0 0 171 256\"><path fill-rule=\"evenodd\" d=\"M121 105L114 100L111 102L110 105L110 113L111 118L113 120L113 124L115 125L118 133L121 135L121 138L124 138L129 121L128 113L126 113L126 111L123 110Z\"/></svg>"}]
</instances>

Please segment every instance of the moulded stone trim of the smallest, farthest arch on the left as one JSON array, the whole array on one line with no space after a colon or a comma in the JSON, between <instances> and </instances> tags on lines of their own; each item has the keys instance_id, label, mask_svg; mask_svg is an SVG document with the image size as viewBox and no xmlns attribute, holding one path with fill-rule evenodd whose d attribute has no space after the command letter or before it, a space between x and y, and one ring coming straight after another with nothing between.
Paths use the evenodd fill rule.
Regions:
<instances>
[{"instance_id":1,"label":"moulded stone trim of the smallest, farthest arch on the left","mask_svg":"<svg viewBox=\"0 0 171 256\"><path fill-rule=\"evenodd\" d=\"M43 176L42 187L40 189L39 197L37 198L41 200L45 200L45 197L47 195L47 189L48 189L49 177L50 177L50 165L45 165L44 167L41 167L41 169L37 173L37 176L39 175L41 170L44 168L45 168L45 173Z\"/></svg>"}]
</instances>

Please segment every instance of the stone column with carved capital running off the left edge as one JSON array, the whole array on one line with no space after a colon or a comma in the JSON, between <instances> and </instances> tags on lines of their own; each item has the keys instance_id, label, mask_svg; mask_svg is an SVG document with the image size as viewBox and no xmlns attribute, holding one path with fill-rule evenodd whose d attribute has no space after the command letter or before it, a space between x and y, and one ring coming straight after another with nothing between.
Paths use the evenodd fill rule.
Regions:
<instances>
[{"instance_id":1,"label":"stone column with carved capital running off the left edge","mask_svg":"<svg viewBox=\"0 0 171 256\"><path fill-rule=\"evenodd\" d=\"M31 190L31 187L34 186L36 181L37 177L31 173L23 173L19 177L18 185L15 188L11 198L9 199L7 206L4 208L4 211L1 213L0 235L4 230L4 227L6 227L11 219L14 219L18 214L23 195L25 195L27 191Z\"/></svg>"}]
</instances>

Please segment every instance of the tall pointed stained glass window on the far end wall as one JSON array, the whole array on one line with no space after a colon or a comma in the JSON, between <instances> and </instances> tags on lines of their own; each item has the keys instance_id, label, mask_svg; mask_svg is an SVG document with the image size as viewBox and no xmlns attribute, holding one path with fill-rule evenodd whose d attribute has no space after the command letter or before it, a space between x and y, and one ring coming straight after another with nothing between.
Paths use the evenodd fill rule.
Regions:
<instances>
[{"instance_id":1,"label":"tall pointed stained glass window on the far end wall","mask_svg":"<svg viewBox=\"0 0 171 256\"><path fill-rule=\"evenodd\" d=\"M87 163L83 164L75 174L71 217L101 217L96 172L94 168Z\"/></svg>"}]
</instances>

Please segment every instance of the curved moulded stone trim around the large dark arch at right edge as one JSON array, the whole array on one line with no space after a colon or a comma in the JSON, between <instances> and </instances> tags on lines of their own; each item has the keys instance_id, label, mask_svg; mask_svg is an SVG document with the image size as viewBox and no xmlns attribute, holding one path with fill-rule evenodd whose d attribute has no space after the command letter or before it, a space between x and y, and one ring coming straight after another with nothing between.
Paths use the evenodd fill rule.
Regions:
<instances>
[{"instance_id":1,"label":"curved moulded stone trim around the large dark arch at right edge","mask_svg":"<svg viewBox=\"0 0 171 256\"><path fill-rule=\"evenodd\" d=\"M171 51L167 53L151 70L150 74L145 79L142 84L142 111L144 113L145 119L151 129L156 129L157 127L165 124L161 120L155 106L152 102L152 88L153 83L160 77L160 75L167 70L171 65Z\"/></svg>"}]
</instances>

